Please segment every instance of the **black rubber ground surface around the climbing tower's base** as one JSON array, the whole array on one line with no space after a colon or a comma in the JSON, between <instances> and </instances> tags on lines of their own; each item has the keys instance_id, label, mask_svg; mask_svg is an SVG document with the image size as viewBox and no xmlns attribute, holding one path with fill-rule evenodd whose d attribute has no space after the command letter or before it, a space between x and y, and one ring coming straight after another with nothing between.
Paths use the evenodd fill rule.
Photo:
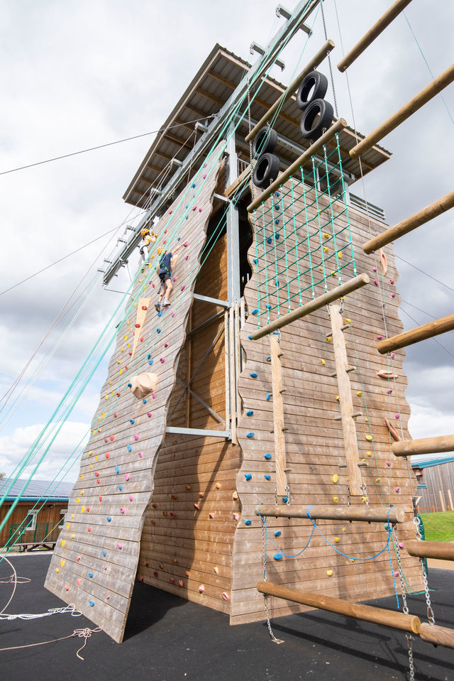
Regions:
<instances>
[{"instance_id":1,"label":"black rubber ground surface around the climbing tower's base","mask_svg":"<svg viewBox=\"0 0 454 681\"><path fill-rule=\"evenodd\" d=\"M12 557L29 584L18 584L8 613L43 613L62 601L43 587L49 555ZM0 563L0 579L11 573ZM431 570L431 599L438 624L454 628L454 572ZM11 595L0 584L0 610ZM368 601L395 609L395 597ZM401 604L402 607L402 604ZM412 614L425 617L423 595L410 596ZM272 643L265 623L230 626L228 616L135 584L121 645L94 633L82 650L81 638L57 641L76 628L94 628L84 617L55 614L41 619L0 622L0 648L52 641L0 652L1 681L384 681L409 679L405 634L323 611L272 621ZM416 680L454 681L454 650L416 637Z\"/></svg>"}]
</instances>

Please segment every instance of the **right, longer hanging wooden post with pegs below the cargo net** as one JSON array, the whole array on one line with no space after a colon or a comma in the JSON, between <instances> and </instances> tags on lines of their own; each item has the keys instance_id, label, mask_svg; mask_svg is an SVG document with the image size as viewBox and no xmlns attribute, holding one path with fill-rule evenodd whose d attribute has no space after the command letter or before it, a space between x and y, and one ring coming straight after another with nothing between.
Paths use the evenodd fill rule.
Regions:
<instances>
[{"instance_id":1,"label":"right, longer hanging wooden post with pegs below the cargo net","mask_svg":"<svg viewBox=\"0 0 454 681\"><path fill-rule=\"evenodd\" d=\"M345 350L345 338L342 332L342 315L339 305L331 305L331 332L333 335L334 361L336 362L336 376L338 380L339 406L341 408L341 420L343 441L345 446L345 459L347 462L348 485L352 496L362 496L361 472L358 468L359 454L356 440L356 428L353 421L353 402L350 378L348 378L348 360Z\"/></svg>"}]
</instances>

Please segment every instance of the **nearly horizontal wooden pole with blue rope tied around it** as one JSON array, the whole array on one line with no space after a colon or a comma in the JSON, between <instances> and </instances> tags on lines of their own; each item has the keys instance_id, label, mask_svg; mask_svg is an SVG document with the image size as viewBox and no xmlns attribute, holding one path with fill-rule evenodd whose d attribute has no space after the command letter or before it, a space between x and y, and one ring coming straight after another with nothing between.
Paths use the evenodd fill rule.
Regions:
<instances>
[{"instance_id":1,"label":"nearly horizontal wooden pole with blue rope tied around it","mask_svg":"<svg viewBox=\"0 0 454 681\"><path fill-rule=\"evenodd\" d=\"M275 518L307 518L307 509L311 518L328 521L360 521L365 523L404 523L406 514L403 508L384 508L377 506L301 506L292 503L290 506L259 506L255 511L256 516Z\"/></svg>"}]
</instances>

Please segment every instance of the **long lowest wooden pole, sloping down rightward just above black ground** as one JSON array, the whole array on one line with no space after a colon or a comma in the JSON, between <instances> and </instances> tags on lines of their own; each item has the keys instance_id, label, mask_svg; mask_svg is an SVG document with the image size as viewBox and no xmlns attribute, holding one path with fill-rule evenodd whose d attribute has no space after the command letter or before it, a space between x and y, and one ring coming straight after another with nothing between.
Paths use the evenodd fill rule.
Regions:
<instances>
[{"instance_id":1,"label":"long lowest wooden pole, sloping down rightward just above black ground","mask_svg":"<svg viewBox=\"0 0 454 681\"><path fill-rule=\"evenodd\" d=\"M294 601L294 603L302 603L312 608L336 612L340 615L354 617L365 622L383 624L384 626L401 629L402 631L419 633L421 628L421 620L416 615L406 615L394 610L375 608L374 606L362 605L362 603L354 603L353 601L343 601L339 598L333 598L333 596L301 592L297 589L289 589L289 587L282 587L281 584L272 584L270 582L258 582L257 590L260 594L277 596L277 598Z\"/></svg>"}]
</instances>

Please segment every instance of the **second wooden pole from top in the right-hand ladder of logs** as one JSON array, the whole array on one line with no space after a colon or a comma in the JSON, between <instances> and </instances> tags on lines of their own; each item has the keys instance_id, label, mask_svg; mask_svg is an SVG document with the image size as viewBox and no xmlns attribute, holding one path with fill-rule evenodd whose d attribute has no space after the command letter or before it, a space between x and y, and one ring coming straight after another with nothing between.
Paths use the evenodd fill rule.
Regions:
<instances>
[{"instance_id":1,"label":"second wooden pole from top in the right-hand ladder of logs","mask_svg":"<svg viewBox=\"0 0 454 681\"><path fill-rule=\"evenodd\" d=\"M443 73L441 73L441 75L429 83L427 87L422 89L419 94L416 94L413 99L410 99L410 101L404 104L404 106L396 111L395 114L392 114L387 121L384 121L384 123L378 126L378 128L376 128L373 132L367 135L367 137L354 146L353 149L350 149L350 157L354 160L357 160L358 156L361 156L362 153L365 153L365 151L372 148L374 144L379 142L382 138L384 138L384 136L397 128L397 126L399 126L401 123L406 121L406 119L409 118L411 114L414 114L415 111L421 109L424 104L433 99L438 92L441 92L441 90L445 89L445 87L453 82L453 80L454 64L451 64L445 71L443 71Z\"/></svg>"}]
</instances>

